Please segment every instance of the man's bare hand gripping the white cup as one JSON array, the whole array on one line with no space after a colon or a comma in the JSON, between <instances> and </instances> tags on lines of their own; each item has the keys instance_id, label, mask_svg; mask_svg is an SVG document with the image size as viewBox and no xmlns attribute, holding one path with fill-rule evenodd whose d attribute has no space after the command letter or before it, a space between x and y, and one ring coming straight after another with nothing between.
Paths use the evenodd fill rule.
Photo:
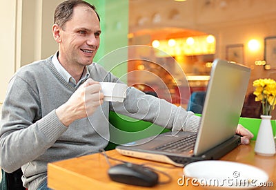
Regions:
<instances>
[{"instance_id":1,"label":"man's bare hand gripping the white cup","mask_svg":"<svg viewBox=\"0 0 276 190\"><path fill-rule=\"evenodd\" d=\"M57 108L56 114L65 126L69 126L75 120L92 115L101 104L103 104L101 85L88 79L65 104Z\"/></svg>"}]
</instances>

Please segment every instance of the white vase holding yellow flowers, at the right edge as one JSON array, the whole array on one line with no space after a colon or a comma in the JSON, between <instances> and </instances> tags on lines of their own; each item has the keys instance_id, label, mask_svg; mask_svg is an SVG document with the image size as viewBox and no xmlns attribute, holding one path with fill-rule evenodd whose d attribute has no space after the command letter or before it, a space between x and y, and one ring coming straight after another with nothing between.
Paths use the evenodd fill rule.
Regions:
<instances>
[{"instance_id":1,"label":"white vase holding yellow flowers, at the right edge","mask_svg":"<svg viewBox=\"0 0 276 190\"><path fill-rule=\"evenodd\" d=\"M275 155L275 141L271 126L271 115L261 115L262 121L255 142L255 153L259 155Z\"/></svg>"}]
</instances>

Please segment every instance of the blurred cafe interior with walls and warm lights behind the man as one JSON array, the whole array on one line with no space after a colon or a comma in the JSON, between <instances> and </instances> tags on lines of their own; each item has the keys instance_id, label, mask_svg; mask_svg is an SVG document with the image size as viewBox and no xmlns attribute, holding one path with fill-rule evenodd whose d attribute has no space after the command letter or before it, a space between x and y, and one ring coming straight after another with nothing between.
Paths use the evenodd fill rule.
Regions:
<instances>
[{"instance_id":1,"label":"blurred cafe interior with walls and warm lights behind the man","mask_svg":"<svg viewBox=\"0 0 276 190\"><path fill-rule=\"evenodd\" d=\"M103 30L95 61L128 85L186 107L190 93L206 91L214 59L227 59L251 68L242 116L259 117L253 81L276 79L275 0L87 1ZM60 2L1 0L1 104L16 70L57 50L52 15Z\"/></svg>"}]
</instances>

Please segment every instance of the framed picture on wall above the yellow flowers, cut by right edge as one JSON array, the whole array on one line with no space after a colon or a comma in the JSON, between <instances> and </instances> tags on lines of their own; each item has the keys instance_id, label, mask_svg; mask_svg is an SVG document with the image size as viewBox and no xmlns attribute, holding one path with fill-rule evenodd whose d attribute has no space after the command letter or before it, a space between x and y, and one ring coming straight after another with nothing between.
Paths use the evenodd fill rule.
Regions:
<instances>
[{"instance_id":1,"label":"framed picture on wall above the yellow flowers, cut by right edge","mask_svg":"<svg viewBox=\"0 0 276 190\"><path fill-rule=\"evenodd\" d=\"M265 69L276 70L276 36L264 38Z\"/></svg>"}]
</instances>

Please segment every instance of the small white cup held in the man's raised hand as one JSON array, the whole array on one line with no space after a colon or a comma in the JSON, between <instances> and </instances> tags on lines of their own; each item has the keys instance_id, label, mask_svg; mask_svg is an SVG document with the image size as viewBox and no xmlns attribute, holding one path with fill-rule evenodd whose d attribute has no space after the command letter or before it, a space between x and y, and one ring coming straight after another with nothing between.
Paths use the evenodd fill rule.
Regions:
<instances>
[{"instance_id":1,"label":"small white cup held in the man's raised hand","mask_svg":"<svg viewBox=\"0 0 276 190\"><path fill-rule=\"evenodd\" d=\"M126 98L126 84L115 83L115 82L100 82L101 92L104 97L103 100L108 102L123 102Z\"/></svg>"}]
</instances>

